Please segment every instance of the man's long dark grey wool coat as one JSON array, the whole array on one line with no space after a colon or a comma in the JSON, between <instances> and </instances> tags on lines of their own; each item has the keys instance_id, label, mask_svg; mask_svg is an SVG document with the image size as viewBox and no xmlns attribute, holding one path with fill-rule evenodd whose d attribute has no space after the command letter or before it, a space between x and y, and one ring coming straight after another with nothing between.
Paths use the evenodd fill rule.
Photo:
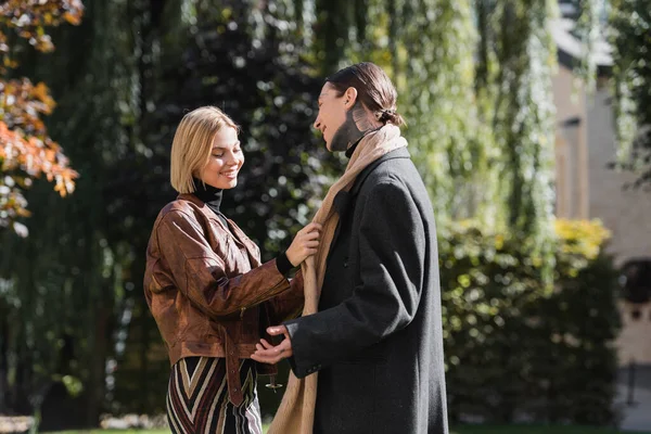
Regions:
<instances>
[{"instance_id":1,"label":"man's long dark grey wool coat","mask_svg":"<svg viewBox=\"0 0 651 434\"><path fill-rule=\"evenodd\" d=\"M319 371L316 434L447 434L432 204L406 149L335 199L319 312L289 321L298 378Z\"/></svg>"}]
</instances>

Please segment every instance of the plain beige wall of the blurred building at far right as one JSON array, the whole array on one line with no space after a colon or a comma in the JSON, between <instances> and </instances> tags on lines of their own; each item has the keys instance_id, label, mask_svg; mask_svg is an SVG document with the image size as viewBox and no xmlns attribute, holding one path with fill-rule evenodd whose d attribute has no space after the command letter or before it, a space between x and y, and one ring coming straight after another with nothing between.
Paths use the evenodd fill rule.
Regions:
<instances>
[{"instance_id":1,"label":"plain beige wall of the blurred building at far right","mask_svg":"<svg viewBox=\"0 0 651 434\"><path fill-rule=\"evenodd\" d=\"M553 78L557 105L557 216L598 218L612 232L617 265L651 257L651 192L624 190L635 176L608 167L615 158L613 107L607 87L593 94L574 88L564 66ZM651 283L650 283L651 284ZM620 362L651 363L651 305L620 305ZM634 319L634 311L639 318Z\"/></svg>"}]
</instances>

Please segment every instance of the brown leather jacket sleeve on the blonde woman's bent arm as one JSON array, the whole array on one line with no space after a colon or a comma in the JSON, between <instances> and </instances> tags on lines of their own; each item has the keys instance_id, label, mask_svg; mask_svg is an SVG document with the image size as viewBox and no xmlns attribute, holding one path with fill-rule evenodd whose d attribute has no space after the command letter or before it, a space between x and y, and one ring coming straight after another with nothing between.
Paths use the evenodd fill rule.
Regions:
<instances>
[{"instance_id":1,"label":"brown leather jacket sleeve on the blonde woman's bent arm","mask_svg":"<svg viewBox=\"0 0 651 434\"><path fill-rule=\"evenodd\" d=\"M182 212L166 214L155 231L161 255L158 260L165 263L164 267L156 269L171 275L168 278L178 291L210 317L243 311L289 289L289 281L278 271L276 260L243 275L228 277L225 259L213 251L199 224Z\"/></svg>"}]
</instances>

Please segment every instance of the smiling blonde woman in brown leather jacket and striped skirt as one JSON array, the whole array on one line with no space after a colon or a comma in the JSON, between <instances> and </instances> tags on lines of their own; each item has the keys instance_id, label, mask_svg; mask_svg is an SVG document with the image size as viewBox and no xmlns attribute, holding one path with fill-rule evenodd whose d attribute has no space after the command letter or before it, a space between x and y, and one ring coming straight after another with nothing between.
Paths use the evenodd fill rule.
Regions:
<instances>
[{"instance_id":1,"label":"smiling blonde woman in brown leather jacket and striped skirt","mask_svg":"<svg viewBox=\"0 0 651 434\"><path fill-rule=\"evenodd\" d=\"M298 231L278 258L259 248L219 210L238 184L244 156L238 127L219 108L181 120L171 146L171 186L146 252L144 292L171 362L167 416L175 433L260 433L258 373L251 360L260 330L295 316L302 278L285 275L312 255L320 226Z\"/></svg>"}]
</instances>

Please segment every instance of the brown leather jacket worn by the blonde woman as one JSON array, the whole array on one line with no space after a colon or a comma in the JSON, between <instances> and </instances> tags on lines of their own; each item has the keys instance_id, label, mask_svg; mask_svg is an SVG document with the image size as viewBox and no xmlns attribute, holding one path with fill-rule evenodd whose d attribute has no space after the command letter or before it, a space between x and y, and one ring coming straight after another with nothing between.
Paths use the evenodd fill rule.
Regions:
<instances>
[{"instance_id":1,"label":"brown leather jacket worn by the blonde woman","mask_svg":"<svg viewBox=\"0 0 651 434\"><path fill-rule=\"evenodd\" d=\"M225 357L230 400L239 405L239 359L250 358L260 337L269 340L268 326L299 314L303 279L298 272L290 284L276 259L260 265L257 245L228 224L230 230L192 194L165 206L146 250L144 294L170 363Z\"/></svg>"}]
</instances>

